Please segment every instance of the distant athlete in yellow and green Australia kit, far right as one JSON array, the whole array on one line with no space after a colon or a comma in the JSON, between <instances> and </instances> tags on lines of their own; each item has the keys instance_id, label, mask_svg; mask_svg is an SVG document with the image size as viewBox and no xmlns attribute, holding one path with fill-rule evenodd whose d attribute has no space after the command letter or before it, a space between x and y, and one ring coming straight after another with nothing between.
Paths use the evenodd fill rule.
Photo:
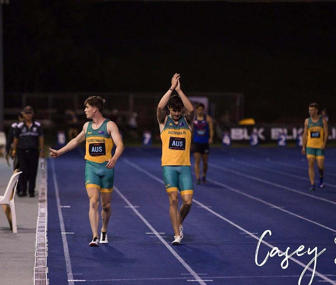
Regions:
<instances>
[{"instance_id":1,"label":"distant athlete in yellow and green Australia kit, far right","mask_svg":"<svg viewBox=\"0 0 336 285\"><path fill-rule=\"evenodd\" d=\"M328 123L325 118L318 115L319 105L317 103L309 104L308 111L310 117L304 121L302 154L306 154L308 160L308 174L311 183L309 190L315 191L315 160L320 173L319 187L323 187L324 150L328 141Z\"/></svg>"}]
</instances>

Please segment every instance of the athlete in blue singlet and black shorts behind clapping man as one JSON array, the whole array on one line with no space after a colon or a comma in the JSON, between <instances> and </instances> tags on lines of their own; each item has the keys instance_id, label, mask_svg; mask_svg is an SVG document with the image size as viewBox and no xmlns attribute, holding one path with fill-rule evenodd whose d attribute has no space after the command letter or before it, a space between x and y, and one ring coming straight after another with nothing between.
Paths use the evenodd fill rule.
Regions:
<instances>
[{"instance_id":1,"label":"athlete in blue singlet and black shorts behind clapping man","mask_svg":"<svg viewBox=\"0 0 336 285\"><path fill-rule=\"evenodd\" d=\"M197 184L201 184L200 179L200 162L203 160L203 177L205 183L206 173L208 170L209 144L213 141L213 121L212 118L204 114L204 104L199 103L196 106L196 115L194 118L194 136L193 150L195 157L195 173Z\"/></svg>"}]
</instances>

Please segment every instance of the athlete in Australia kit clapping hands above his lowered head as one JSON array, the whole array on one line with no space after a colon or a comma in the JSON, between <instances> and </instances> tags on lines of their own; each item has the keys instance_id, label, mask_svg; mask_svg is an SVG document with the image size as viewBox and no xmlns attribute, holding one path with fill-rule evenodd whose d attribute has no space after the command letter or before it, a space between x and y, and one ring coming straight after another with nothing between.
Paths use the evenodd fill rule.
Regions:
<instances>
[{"instance_id":1,"label":"athlete in Australia kit clapping hands above his lowered head","mask_svg":"<svg viewBox=\"0 0 336 285\"><path fill-rule=\"evenodd\" d=\"M190 170L191 124L194 107L180 87L180 75L175 74L171 87L161 98L157 117L162 140L162 170L166 191L169 196L169 215L174 230L173 245L179 245L183 238L182 222L189 213L193 201L193 180ZM175 91L174 91L175 89ZM165 107L168 104L170 114ZM182 115L182 109L186 113ZM180 191L183 204L177 209Z\"/></svg>"}]
</instances>

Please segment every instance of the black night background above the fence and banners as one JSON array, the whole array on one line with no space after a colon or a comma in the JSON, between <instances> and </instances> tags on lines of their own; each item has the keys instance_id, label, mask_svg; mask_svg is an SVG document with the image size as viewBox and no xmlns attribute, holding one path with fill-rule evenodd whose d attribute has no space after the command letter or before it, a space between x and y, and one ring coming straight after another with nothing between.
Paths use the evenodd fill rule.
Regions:
<instances>
[{"instance_id":1,"label":"black night background above the fence and banners","mask_svg":"<svg viewBox=\"0 0 336 285\"><path fill-rule=\"evenodd\" d=\"M303 124L313 101L335 121L335 3L51 3L4 5L5 94L164 94L178 72L186 94L243 92L259 122Z\"/></svg>"}]
</instances>

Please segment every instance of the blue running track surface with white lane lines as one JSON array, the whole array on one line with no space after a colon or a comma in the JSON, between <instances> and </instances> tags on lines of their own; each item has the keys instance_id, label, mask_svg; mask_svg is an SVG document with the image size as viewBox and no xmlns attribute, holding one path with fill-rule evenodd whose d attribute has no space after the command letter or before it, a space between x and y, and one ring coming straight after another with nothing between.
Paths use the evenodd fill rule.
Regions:
<instances>
[{"instance_id":1,"label":"blue running track surface with white lane lines","mask_svg":"<svg viewBox=\"0 0 336 285\"><path fill-rule=\"evenodd\" d=\"M118 160L109 244L99 247L88 246L83 150L49 159L49 284L295 285L324 249L311 284L336 284L335 150L326 150L324 187L318 187L316 169L317 190L310 192L307 161L298 148L211 149L207 182L194 183L180 246L171 245L160 148L126 148ZM290 254L304 246L286 269L278 255L256 265L266 230L271 236L263 238L259 264L274 247L290 247ZM301 284L309 284L313 268L314 262Z\"/></svg>"}]
</instances>

